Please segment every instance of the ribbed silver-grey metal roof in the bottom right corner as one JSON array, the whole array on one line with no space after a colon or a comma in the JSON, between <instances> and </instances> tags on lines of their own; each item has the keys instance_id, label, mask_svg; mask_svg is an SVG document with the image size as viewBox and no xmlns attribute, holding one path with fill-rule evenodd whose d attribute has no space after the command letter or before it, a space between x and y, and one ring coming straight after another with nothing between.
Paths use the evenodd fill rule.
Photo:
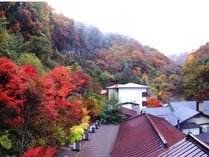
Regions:
<instances>
[{"instance_id":1,"label":"ribbed silver-grey metal roof in the bottom right corner","mask_svg":"<svg viewBox=\"0 0 209 157\"><path fill-rule=\"evenodd\" d=\"M208 157L209 147L192 134L160 154L160 157Z\"/></svg>"}]
</instances>

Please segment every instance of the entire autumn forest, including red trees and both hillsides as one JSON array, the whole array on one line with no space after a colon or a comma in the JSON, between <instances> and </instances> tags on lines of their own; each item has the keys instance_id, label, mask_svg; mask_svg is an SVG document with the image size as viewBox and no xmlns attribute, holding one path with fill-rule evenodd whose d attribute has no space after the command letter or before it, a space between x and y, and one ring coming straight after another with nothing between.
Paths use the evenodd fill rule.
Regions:
<instances>
[{"instance_id":1,"label":"entire autumn forest, including red trees and both hillsides","mask_svg":"<svg viewBox=\"0 0 209 157\"><path fill-rule=\"evenodd\" d=\"M152 47L104 34L45 2L1 2L0 155L41 145L25 157L50 156L55 147L43 146L63 146L69 133L96 120L107 109L101 89L115 83L149 85L150 106L160 106L158 99L207 99L208 60L208 43L178 66Z\"/></svg>"}]
</instances>

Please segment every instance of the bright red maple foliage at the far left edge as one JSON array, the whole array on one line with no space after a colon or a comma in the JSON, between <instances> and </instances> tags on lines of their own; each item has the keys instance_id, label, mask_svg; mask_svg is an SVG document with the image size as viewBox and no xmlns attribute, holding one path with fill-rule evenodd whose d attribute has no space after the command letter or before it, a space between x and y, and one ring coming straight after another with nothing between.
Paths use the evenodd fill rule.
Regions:
<instances>
[{"instance_id":1,"label":"bright red maple foliage at the far left edge","mask_svg":"<svg viewBox=\"0 0 209 157\"><path fill-rule=\"evenodd\" d=\"M23 122L21 108L26 89L21 71L7 58L0 58L0 121L1 127L17 127Z\"/></svg>"}]
</instances>

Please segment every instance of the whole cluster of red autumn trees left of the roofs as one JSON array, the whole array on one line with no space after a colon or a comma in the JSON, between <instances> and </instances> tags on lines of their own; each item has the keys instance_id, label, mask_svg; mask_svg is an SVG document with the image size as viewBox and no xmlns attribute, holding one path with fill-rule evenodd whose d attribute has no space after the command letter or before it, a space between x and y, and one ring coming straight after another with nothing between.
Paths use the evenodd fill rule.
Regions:
<instances>
[{"instance_id":1,"label":"whole cluster of red autumn trees left of the roofs","mask_svg":"<svg viewBox=\"0 0 209 157\"><path fill-rule=\"evenodd\" d=\"M32 65L19 67L7 58L0 58L0 62L0 125L1 129L18 132L17 145L13 146L21 154L26 146L57 146L61 134L69 142L70 128L84 123L89 117L87 109L98 110L96 102L89 108L92 97L85 95L90 94L91 77L82 70L61 66L40 75ZM30 148L23 156L45 157L54 152L52 147L39 146Z\"/></svg>"}]
</instances>

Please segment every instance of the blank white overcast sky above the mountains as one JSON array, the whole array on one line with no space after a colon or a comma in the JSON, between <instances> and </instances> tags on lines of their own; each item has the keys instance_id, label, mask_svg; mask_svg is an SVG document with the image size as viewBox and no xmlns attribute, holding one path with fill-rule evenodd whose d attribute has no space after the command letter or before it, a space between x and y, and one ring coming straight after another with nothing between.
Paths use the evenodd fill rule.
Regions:
<instances>
[{"instance_id":1,"label":"blank white overcast sky above the mountains","mask_svg":"<svg viewBox=\"0 0 209 157\"><path fill-rule=\"evenodd\" d=\"M209 0L46 0L57 13L119 33L165 55L209 42Z\"/></svg>"}]
</instances>

